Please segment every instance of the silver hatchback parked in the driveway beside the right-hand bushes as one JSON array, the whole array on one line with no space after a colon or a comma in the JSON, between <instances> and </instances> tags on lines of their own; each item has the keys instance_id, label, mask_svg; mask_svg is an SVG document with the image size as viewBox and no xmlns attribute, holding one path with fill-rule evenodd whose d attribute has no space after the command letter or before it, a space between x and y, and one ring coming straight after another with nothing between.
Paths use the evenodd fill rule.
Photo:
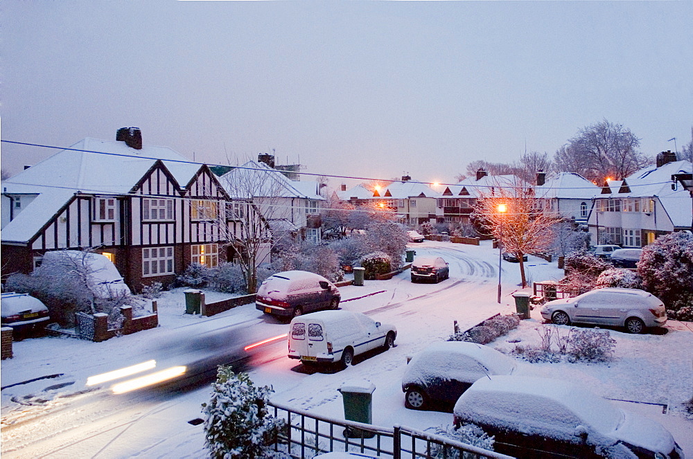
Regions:
<instances>
[{"instance_id":1,"label":"silver hatchback parked in the driveway beside the right-hand bushes","mask_svg":"<svg viewBox=\"0 0 693 459\"><path fill-rule=\"evenodd\" d=\"M541 316L556 325L613 325L625 327L629 333L644 333L647 327L663 327L667 323L662 300L644 290L615 287L549 301L541 308Z\"/></svg>"}]
</instances>

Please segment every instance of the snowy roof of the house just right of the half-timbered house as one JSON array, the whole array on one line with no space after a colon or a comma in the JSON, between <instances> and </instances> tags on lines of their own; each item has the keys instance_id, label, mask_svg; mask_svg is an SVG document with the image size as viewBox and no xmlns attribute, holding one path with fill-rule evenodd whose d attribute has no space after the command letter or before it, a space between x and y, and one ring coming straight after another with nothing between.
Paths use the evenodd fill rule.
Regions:
<instances>
[{"instance_id":1,"label":"snowy roof of the house just right of the half-timbered house","mask_svg":"<svg viewBox=\"0 0 693 459\"><path fill-rule=\"evenodd\" d=\"M254 197L299 197L324 199L317 193L317 182L292 181L265 163L248 161L229 170L219 178L231 197L252 199Z\"/></svg>"}]
</instances>

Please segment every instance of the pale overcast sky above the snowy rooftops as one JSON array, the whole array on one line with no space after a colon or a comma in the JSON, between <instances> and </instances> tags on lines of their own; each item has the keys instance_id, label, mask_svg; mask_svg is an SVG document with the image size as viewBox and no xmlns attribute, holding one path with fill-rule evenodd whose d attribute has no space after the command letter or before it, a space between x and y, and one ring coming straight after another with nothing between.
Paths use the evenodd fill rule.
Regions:
<instances>
[{"instance_id":1,"label":"pale overcast sky above the snowy rooftops","mask_svg":"<svg viewBox=\"0 0 693 459\"><path fill-rule=\"evenodd\" d=\"M693 2L0 4L1 136L143 141L197 161L452 182L606 118L690 141ZM53 150L1 145L19 172ZM340 181L331 180L332 186Z\"/></svg>"}]
</instances>

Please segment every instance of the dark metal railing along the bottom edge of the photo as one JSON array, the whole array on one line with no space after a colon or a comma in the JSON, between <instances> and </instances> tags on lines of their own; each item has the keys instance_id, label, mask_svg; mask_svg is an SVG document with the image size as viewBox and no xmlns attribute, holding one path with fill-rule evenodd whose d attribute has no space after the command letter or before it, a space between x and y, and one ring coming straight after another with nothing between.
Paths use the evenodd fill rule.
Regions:
<instances>
[{"instance_id":1,"label":"dark metal railing along the bottom edge of the photo","mask_svg":"<svg viewBox=\"0 0 693 459\"><path fill-rule=\"evenodd\" d=\"M511 459L511 456L405 426L389 429L317 416L273 402L269 406L270 410L274 410L274 417L286 422L286 428L274 442L274 451L283 451L292 458L313 458L322 453L344 451L393 459ZM345 435L345 432L349 432L349 435Z\"/></svg>"}]
</instances>

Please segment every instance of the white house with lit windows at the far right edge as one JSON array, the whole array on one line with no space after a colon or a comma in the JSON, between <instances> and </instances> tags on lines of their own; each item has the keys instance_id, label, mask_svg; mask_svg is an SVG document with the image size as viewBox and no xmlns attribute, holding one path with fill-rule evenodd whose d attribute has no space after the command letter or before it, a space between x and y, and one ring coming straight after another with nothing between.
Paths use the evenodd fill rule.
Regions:
<instances>
[{"instance_id":1,"label":"white house with lit windows at the far right edge","mask_svg":"<svg viewBox=\"0 0 693 459\"><path fill-rule=\"evenodd\" d=\"M663 152L656 165L604 183L588 217L595 244L642 247L659 235L690 230L691 197L672 175L691 172L690 161Z\"/></svg>"}]
</instances>

